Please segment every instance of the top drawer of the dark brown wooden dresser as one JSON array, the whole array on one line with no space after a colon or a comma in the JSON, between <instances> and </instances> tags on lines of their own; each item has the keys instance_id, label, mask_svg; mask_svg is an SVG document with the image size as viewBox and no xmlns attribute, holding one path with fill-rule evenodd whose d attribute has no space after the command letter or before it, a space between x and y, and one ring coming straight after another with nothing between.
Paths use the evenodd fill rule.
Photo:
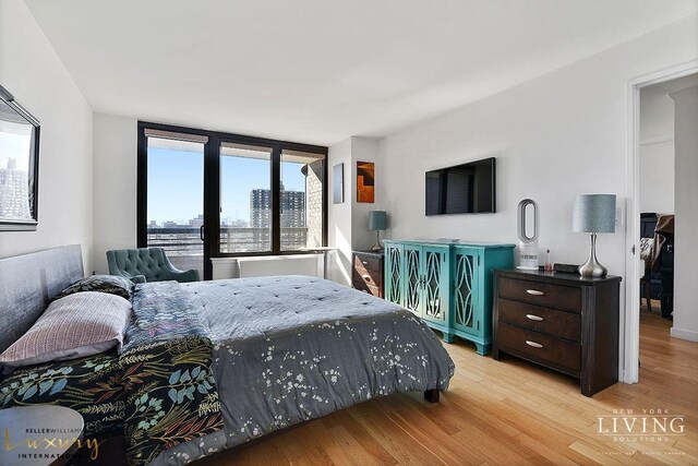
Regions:
<instances>
[{"instance_id":1,"label":"top drawer of the dark brown wooden dresser","mask_svg":"<svg viewBox=\"0 0 698 466\"><path fill-rule=\"evenodd\" d=\"M500 297L531 304L581 312L581 290L579 287L551 285L546 283L500 278Z\"/></svg>"}]
</instances>

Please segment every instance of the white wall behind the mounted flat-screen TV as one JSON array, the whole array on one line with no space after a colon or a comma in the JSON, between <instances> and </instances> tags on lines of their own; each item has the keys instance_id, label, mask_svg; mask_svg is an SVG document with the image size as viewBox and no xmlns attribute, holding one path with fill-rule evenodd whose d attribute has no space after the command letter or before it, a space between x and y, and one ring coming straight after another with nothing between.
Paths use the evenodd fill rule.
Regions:
<instances>
[{"instance_id":1,"label":"white wall behind the mounted flat-screen TV","mask_svg":"<svg viewBox=\"0 0 698 466\"><path fill-rule=\"evenodd\" d=\"M626 212L628 82L698 59L697 25L693 15L382 140L388 236L515 242L516 206L531 198L541 249L553 262L582 263L589 236L571 231L575 195L614 193ZM496 214L424 216L425 170L489 156L497 157ZM599 238L613 275L625 276L625 229ZM622 316L624 297L625 283Z\"/></svg>"}]
</instances>

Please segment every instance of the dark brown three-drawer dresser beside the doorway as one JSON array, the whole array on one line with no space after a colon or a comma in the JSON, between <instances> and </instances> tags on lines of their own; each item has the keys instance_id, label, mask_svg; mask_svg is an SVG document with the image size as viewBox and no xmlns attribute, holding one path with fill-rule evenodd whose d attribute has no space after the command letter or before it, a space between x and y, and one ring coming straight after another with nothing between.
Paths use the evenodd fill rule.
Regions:
<instances>
[{"instance_id":1,"label":"dark brown three-drawer dresser beside the doorway","mask_svg":"<svg viewBox=\"0 0 698 466\"><path fill-rule=\"evenodd\" d=\"M493 357L506 353L580 379L591 396L618 381L621 277L494 272Z\"/></svg>"}]
</instances>

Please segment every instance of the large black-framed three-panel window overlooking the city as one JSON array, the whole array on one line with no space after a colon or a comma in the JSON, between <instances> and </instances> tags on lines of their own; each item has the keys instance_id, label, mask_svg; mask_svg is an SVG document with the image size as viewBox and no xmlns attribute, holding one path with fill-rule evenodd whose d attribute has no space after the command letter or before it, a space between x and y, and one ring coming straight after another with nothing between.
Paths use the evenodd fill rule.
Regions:
<instances>
[{"instance_id":1,"label":"large black-framed three-panel window overlooking the city","mask_svg":"<svg viewBox=\"0 0 698 466\"><path fill-rule=\"evenodd\" d=\"M210 258L326 244L327 147L139 123L139 246L210 278Z\"/></svg>"}]
</instances>

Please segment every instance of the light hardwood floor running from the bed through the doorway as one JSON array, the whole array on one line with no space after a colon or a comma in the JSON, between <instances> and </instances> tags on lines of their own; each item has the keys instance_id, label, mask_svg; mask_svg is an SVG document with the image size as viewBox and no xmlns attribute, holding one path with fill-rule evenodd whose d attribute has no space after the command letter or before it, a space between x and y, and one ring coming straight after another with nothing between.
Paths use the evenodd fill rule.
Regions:
<instances>
[{"instance_id":1,"label":"light hardwood floor running from the bed through the doorway","mask_svg":"<svg viewBox=\"0 0 698 466\"><path fill-rule=\"evenodd\" d=\"M436 405L421 393L374 399L197 464L695 465L698 343L670 338L671 322L658 314L641 313L639 384L587 398L571 378L512 357L494 361L458 340L446 345L456 375ZM675 419L674 430L643 434L650 409L661 410L660 422ZM614 415L617 433L637 419L633 435L607 434Z\"/></svg>"}]
</instances>

